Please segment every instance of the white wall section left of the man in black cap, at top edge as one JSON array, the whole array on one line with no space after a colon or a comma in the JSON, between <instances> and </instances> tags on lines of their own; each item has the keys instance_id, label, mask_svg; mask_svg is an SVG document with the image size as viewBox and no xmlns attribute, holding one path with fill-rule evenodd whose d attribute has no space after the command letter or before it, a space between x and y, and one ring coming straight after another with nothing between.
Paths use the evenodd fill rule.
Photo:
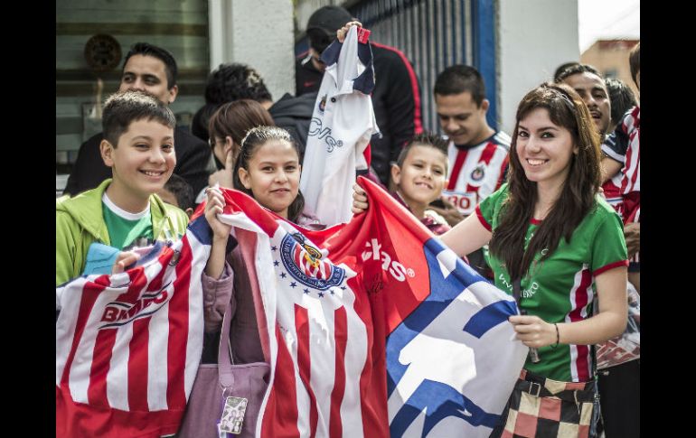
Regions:
<instances>
[{"instance_id":1,"label":"white wall section left of the man in black cap, at top edge","mask_svg":"<svg viewBox=\"0 0 696 438\"><path fill-rule=\"evenodd\" d=\"M258 70L273 99L295 94L292 0L210 0L211 70L241 62Z\"/></svg>"}]
</instances>

